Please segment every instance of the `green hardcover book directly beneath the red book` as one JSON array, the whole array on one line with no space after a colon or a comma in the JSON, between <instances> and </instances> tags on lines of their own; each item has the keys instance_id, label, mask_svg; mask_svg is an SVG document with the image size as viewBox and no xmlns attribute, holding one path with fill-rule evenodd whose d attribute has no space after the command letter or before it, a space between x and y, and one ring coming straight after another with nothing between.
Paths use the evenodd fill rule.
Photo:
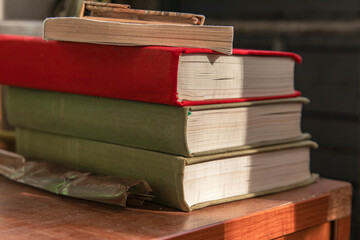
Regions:
<instances>
[{"instance_id":1,"label":"green hardcover book directly beneath the red book","mask_svg":"<svg viewBox=\"0 0 360 240\"><path fill-rule=\"evenodd\" d=\"M8 120L18 127L180 156L299 140L306 98L174 107L8 87Z\"/></svg>"}]
</instances>

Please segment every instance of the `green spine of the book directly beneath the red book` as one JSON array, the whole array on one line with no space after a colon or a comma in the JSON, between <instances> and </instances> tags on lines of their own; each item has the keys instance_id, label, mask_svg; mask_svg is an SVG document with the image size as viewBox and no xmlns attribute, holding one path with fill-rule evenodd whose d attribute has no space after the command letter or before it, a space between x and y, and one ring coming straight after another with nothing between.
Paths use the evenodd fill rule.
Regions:
<instances>
[{"instance_id":1,"label":"green spine of the book directly beneath the red book","mask_svg":"<svg viewBox=\"0 0 360 240\"><path fill-rule=\"evenodd\" d=\"M17 127L190 156L187 108L16 87L6 105Z\"/></svg>"}]
</instances>

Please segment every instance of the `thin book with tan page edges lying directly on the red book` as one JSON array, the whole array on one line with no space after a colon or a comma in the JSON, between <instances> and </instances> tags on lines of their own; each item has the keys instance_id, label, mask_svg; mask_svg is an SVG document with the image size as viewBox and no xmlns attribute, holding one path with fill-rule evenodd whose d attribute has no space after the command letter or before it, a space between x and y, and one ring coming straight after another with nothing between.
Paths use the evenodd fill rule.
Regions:
<instances>
[{"instance_id":1,"label":"thin book with tan page edges lying directly on the red book","mask_svg":"<svg viewBox=\"0 0 360 240\"><path fill-rule=\"evenodd\" d=\"M208 48L231 55L233 27L58 17L45 19L44 39L127 46Z\"/></svg>"}]
</instances>

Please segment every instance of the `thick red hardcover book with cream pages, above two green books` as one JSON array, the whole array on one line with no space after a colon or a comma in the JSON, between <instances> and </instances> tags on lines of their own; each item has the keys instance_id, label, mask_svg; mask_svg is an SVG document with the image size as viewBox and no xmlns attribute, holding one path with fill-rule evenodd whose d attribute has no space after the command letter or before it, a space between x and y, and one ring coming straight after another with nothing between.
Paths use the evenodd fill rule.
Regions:
<instances>
[{"instance_id":1,"label":"thick red hardcover book with cream pages, above two green books","mask_svg":"<svg viewBox=\"0 0 360 240\"><path fill-rule=\"evenodd\" d=\"M173 106L299 96L293 65L300 62L288 52L234 49L233 56L225 56L209 49L0 36L0 84ZM258 86L270 90L258 91Z\"/></svg>"}]
</instances>

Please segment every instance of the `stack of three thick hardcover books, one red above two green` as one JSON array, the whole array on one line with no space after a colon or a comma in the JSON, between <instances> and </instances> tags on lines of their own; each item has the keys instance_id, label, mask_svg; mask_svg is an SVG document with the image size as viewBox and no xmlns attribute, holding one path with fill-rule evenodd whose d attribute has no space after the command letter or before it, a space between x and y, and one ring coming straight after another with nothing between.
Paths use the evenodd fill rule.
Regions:
<instances>
[{"instance_id":1,"label":"stack of three thick hardcover books, one red above two green","mask_svg":"<svg viewBox=\"0 0 360 240\"><path fill-rule=\"evenodd\" d=\"M154 201L184 211L316 179L296 54L19 36L0 44L8 120L25 157L143 179Z\"/></svg>"}]
</instances>

